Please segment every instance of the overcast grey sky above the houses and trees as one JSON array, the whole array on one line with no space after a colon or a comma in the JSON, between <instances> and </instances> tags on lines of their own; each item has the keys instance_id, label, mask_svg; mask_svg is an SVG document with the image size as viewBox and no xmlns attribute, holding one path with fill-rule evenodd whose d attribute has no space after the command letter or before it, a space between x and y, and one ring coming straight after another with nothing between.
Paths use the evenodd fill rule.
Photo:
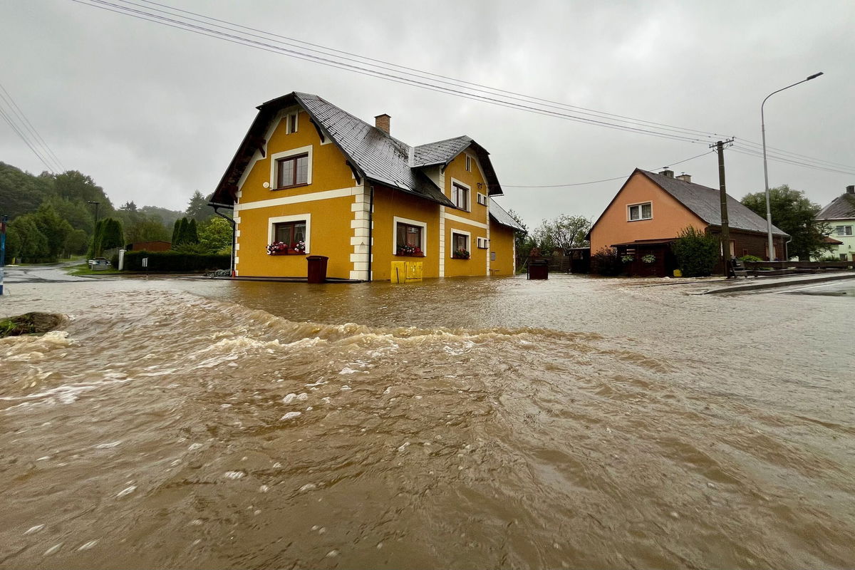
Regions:
<instances>
[{"instance_id":1,"label":"overcast grey sky above the houses and trees","mask_svg":"<svg viewBox=\"0 0 855 570\"><path fill-rule=\"evenodd\" d=\"M111 0L116 1L118 0ZM139 0L136 0L139 3ZM824 205L855 184L855 2L244 2L159 0L267 32L456 79L759 143L846 173L769 162L770 185ZM115 206L185 209L209 193L255 116L290 91L363 120L392 115L409 144L468 134L491 152L505 208L530 228L596 218L634 167L708 150L507 109L207 38L71 0L0 0L0 83L67 169ZM565 111L569 112L569 111ZM728 193L763 190L763 163L725 153ZM802 160L802 159L799 159ZM44 170L0 122L0 161ZM717 187L715 154L675 165Z\"/></svg>"}]
</instances>

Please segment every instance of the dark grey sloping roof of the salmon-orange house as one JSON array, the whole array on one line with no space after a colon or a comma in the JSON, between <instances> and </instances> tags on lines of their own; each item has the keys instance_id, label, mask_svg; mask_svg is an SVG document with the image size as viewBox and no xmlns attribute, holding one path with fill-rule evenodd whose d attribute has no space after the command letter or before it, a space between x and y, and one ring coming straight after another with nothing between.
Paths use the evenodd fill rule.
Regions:
<instances>
[{"instance_id":1,"label":"dark grey sloping roof of the salmon-orange house","mask_svg":"<svg viewBox=\"0 0 855 570\"><path fill-rule=\"evenodd\" d=\"M635 172L643 173L657 186L668 192L677 202L697 215L711 226L722 225L722 205L719 191L709 186L685 182L664 174L657 174L636 168ZM739 200L728 194L728 226L734 230L746 232L766 232L766 220L748 209ZM772 226L772 233L787 236L787 232Z\"/></svg>"}]
</instances>

